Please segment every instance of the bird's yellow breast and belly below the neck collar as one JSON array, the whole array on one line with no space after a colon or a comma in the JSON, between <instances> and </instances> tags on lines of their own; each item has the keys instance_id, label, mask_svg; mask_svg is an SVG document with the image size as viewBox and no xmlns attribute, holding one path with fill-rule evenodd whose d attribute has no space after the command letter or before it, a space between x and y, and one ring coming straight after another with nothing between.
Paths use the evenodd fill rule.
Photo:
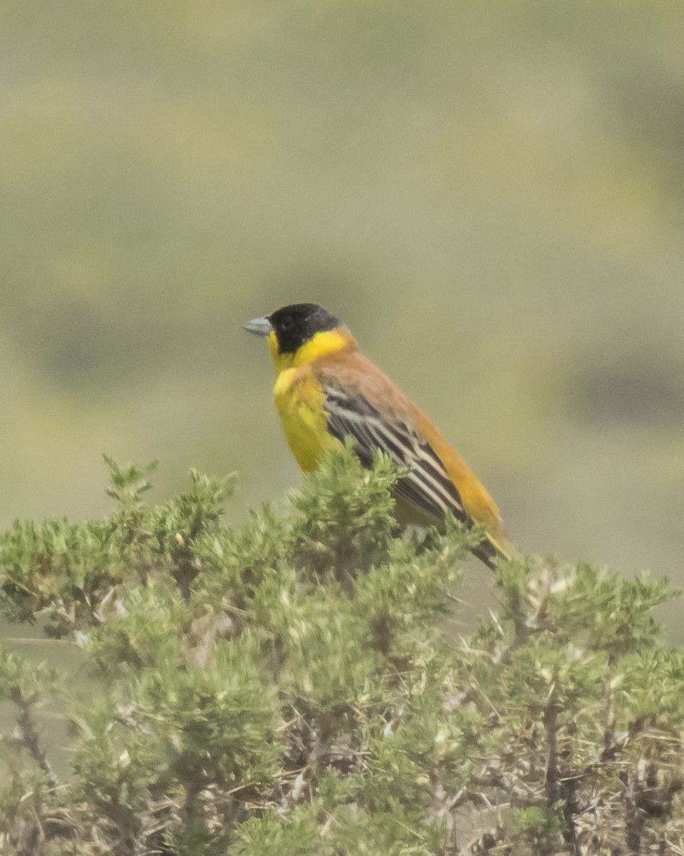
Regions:
<instances>
[{"instance_id":1,"label":"bird's yellow breast and belly below the neck collar","mask_svg":"<svg viewBox=\"0 0 684 856\"><path fill-rule=\"evenodd\" d=\"M339 440L327 431L321 387L310 374L286 369L275 381L274 401L287 445L304 473L310 473L326 449L339 446Z\"/></svg>"}]
</instances>

